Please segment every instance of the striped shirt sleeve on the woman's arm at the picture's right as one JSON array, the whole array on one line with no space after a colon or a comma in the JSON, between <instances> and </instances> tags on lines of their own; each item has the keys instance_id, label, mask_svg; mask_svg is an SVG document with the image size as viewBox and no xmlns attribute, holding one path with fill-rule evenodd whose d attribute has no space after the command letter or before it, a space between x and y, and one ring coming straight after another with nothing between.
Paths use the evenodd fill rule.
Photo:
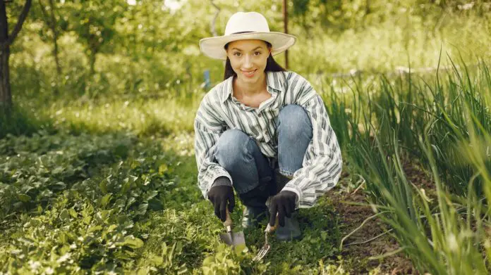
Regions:
<instances>
[{"instance_id":1,"label":"striped shirt sleeve on the woman's arm at the picture's right","mask_svg":"<svg viewBox=\"0 0 491 275\"><path fill-rule=\"evenodd\" d=\"M343 161L322 98L307 80L301 78L299 82L302 83L296 104L307 111L313 138L305 151L303 167L293 174L282 190L295 192L298 196L296 207L306 208L315 205L317 198L337 184Z\"/></svg>"}]
</instances>

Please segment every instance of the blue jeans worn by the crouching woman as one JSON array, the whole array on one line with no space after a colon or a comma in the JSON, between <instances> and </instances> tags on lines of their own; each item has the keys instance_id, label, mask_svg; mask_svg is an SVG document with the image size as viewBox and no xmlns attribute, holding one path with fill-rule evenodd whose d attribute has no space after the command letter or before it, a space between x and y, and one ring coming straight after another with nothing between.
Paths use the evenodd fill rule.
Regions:
<instances>
[{"instance_id":1,"label":"blue jeans worn by the crouching woman","mask_svg":"<svg viewBox=\"0 0 491 275\"><path fill-rule=\"evenodd\" d=\"M234 189L244 205L260 207L277 186L276 169L291 177L302 167L303 156L312 140L312 124L300 105L286 105L275 120L278 133L278 156L267 158L256 141L238 129L222 133L214 157L234 181Z\"/></svg>"}]
</instances>

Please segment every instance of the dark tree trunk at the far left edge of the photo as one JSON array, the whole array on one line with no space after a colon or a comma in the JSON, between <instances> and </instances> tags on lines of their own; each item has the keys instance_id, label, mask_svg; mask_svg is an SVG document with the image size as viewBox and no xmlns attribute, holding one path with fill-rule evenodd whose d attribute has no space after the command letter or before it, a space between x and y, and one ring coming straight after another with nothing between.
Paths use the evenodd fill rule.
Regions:
<instances>
[{"instance_id":1,"label":"dark tree trunk at the far left edge of the photo","mask_svg":"<svg viewBox=\"0 0 491 275\"><path fill-rule=\"evenodd\" d=\"M0 45L4 49L0 49L0 108L4 113L8 114L12 108L12 94L10 87L10 77L8 72L8 57L10 56L10 45L8 39L8 25L5 2L0 0Z\"/></svg>"}]
</instances>

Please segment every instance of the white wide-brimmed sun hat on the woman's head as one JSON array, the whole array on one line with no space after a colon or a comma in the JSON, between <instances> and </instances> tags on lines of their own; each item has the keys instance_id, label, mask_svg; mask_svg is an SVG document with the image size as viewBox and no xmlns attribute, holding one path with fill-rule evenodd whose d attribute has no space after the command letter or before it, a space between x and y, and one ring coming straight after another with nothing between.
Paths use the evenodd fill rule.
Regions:
<instances>
[{"instance_id":1,"label":"white wide-brimmed sun hat on the woman's head","mask_svg":"<svg viewBox=\"0 0 491 275\"><path fill-rule=\"evenodd\" d=\"M200 40L200 49L206 56L226 60L225 44L243 39L259 39L272 45L272 56L282 53L295 44L296 37L282 32L269 32L267 20L261 13L234 13L226 23L222 37Z\"/></svg>"}]
</instances>

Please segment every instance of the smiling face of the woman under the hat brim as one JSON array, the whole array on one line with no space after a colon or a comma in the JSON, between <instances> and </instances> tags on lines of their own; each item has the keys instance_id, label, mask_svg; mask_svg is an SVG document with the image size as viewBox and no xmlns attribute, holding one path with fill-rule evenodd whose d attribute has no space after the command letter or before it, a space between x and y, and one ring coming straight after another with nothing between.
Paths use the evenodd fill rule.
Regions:
<instances>
[{"instance_id":1,"label":"smiling face of the woman under the hat brim","mask_svg":"<svg viewBox=\"0 0 491 275\"><path fill-rule=\"evenodd\" d=\"M262 40L232 41L226 50L232 69L244 83L255 83L261 79L269 53L266 42Z\"/></svg>"}]
</instances>

